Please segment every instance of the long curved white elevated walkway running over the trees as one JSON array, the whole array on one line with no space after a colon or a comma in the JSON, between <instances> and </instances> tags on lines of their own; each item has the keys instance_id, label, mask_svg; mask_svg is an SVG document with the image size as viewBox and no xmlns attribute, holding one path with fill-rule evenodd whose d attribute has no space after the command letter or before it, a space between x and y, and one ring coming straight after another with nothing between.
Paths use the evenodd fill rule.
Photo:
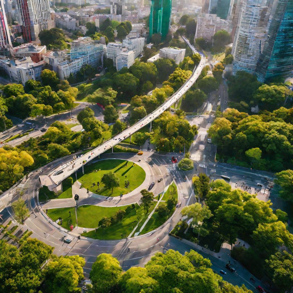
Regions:
<instances>
[{"instance_id":1,"label":"long curved white elevated walkway running over the trees","mask_svg":"<svg viewBox=\"0 0 293 293\"><path fill-rule=\"evenodd\" d=\"M197 50L190 45L189 41L184 38L184 41L188 44L190 49L197 53ZM201 54L201 53L200 53ZM142 127L148 125L150 122L155 120L159 115L161 115L165 110L171 107L176 101L178 101L185 93L189 90L189 88L195 83L198 77L201 74L202 69L205 67L206 58L203 54L201 54L201 60L198 66L193 70L192 75L190 78L181 86L181 88L176 91L168 100L166 100L159 108L154 110L152 113L147 115L146 117L139 120L136 124L128 127L124 131L117 134L115 137L112 137L105 141L103 144L99 145L95 149L89 151L88 153L84 154L83 156L79 156L76 159L71 159L67 163L58 166L57 168L53 169L49 176L40 176L40 181L42 185L48 186L50 190L56 191L56 188L62 180L73 174L79 168L81 168L87 162L95 159L100 154L104 153L108 149L111 149L115 145L119 144L121 141L130 137L132 134L140 130Z\"/></svg>"}]
</instances>

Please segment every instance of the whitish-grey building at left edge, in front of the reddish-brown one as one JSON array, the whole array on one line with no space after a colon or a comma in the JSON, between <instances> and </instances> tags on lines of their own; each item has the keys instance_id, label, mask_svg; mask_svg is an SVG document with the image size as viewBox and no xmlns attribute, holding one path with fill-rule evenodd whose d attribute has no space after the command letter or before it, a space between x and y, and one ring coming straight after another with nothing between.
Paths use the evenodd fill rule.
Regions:
<instances>
[{"instance_id":1,"label":"whitish-grey building at left edge, in front of the reddish-brown one","mask_svg":"<svg viewBox=\"0 0 293 293\"><path fill-rule=\"evenodd\" d=\"M18 59L0 58L0 69L4 70L11 82L25 85L25 82L33 79L40 80L41 72L46 62L33 62L30 57Z\"/></svg>"}]
</instances>

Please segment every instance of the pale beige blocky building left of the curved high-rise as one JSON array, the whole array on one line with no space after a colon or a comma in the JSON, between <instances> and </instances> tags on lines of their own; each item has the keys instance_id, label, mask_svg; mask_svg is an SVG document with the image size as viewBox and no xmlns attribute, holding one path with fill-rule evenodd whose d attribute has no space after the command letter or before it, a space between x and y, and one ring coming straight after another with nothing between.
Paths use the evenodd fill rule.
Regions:
<instances>
[{"instance_id":1,"label":"pale beige blocky building left of the curved high-rise","mask_svg":"<svg viewBox=\"0 0 293 293\"><path fill-rule=\"evenodd\" d=\"M213 35L219 30L229 31L229 22L219 18L216 14L205 14L197 18L195 38L204 38L211 42Z\"/></svg>"}]
</instances>

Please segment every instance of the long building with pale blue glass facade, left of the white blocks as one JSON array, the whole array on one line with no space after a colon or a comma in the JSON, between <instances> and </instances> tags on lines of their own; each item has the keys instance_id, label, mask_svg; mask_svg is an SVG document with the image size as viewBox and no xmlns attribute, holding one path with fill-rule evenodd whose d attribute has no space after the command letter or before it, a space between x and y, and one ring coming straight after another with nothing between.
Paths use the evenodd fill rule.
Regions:
<instances>
[{"instance_id":1,"label":"long building with pale blue glass facade, left of the white blocks","mask_svg":"<svg viewBox=\"0 0 293 293\"><path fill-rule=\"evenodd\" d=\"M76 74L84 65L88 64L94 68L102 69L106 57L106 46L83 37L71 43L70 59L58 64L60 79L66 79L72 73Z\"/></svg>"}]
</instances>

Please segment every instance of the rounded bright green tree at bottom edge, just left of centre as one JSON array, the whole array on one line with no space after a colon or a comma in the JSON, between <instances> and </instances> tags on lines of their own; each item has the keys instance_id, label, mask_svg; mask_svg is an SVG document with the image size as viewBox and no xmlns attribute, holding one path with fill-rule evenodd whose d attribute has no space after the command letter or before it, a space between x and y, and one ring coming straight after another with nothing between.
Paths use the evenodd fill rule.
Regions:
<instances>
[{"instance_id":1,"label":"rounded bright green tree at bottom edge, just left of centre","mask_svg":"<svg viewBox=\"0 0 293 293\"><path fill-rule=\"evenodd\" d=\"M121 274L122 268L117 258L108 253L98 255L90 272L93 288L89 293L113 292Z\"/></svg>"}]
</instances>

